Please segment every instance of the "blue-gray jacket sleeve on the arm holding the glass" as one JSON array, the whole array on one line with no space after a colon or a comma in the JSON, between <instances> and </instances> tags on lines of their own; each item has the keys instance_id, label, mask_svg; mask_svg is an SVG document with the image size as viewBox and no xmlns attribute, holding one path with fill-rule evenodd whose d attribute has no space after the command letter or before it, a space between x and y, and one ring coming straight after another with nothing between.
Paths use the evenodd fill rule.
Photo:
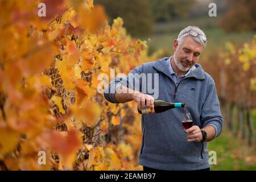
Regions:
<instances>
[{"instance_id":1,"label":"blue-gray jacket sleeve on the arm holding the glass","mask_svg":"<svg viewBox=\"0 0 256 182\"><path fill-rule=\"evenodd\" d=\"M216 93L216 86L212 78L210 79L207 86L207 98L203 104L201 118L201 121L203 122L203 127L214 127L216 131L215 137L218 137L218 135L221 134L223 127L223 118L220 110L220 102Z\"/></svg>"}]
</instances>

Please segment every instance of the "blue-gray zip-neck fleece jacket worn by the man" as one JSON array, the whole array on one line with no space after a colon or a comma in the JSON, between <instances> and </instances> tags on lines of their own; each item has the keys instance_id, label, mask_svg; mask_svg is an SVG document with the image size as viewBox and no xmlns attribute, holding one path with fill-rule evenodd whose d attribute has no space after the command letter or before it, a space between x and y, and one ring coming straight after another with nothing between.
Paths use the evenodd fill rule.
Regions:
<instances>
[{"instance_id":1,"label":"blue-gray zip-neck fleece jacket worn by the man","mask_svg":"<svg viewBox=\"0 0 256 182\"><path fill-rule=\"evenodd\" d=\"M134 68L129 76L116 78L105 89L106 100L117 103L114 93L118 86L123 85L150 94L155 100L185 102L193 125L200 128L213 126L216 130L215 137L218 137L222 131L223 119L213 78L199 64L195 64L196 69L189 72L179 84L175 84L167 66L168 59L169 57L163 57L145 63ZM158 74L154 76L154 73ZM134 74L143 76L130 77ZM139 86L134 84L136 82ZM139 164L163 170L198 170L210 166L207 142L187 142L181 123L183 112L183 108L176 108L164 113L142 115L143 137Z\"/></svg>"}]
</instances>

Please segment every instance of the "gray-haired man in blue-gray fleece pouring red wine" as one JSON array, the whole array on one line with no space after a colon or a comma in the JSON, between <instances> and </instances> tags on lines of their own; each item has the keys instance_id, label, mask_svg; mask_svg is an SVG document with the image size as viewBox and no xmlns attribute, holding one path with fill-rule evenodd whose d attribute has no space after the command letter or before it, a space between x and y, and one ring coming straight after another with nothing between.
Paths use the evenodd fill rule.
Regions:
<instances>
[{"instance_id":1,"label":"gray-haired man in blue-gray fleece pouring red wine","mask_svg":"<svg viewBox=\"0 0 256 182\"><path fill-rule=\"evenodd\" d=\"M220 135L223 119L213 78L197 64L206 44L204 32L188 26L174 40L173 56L145 63L131 71L137 75L158 75L158 79L152 79L154 84L159 84L154 88L159 92L157 98L143 88L151 78L148 75L146 80L133 77L139 89L130 86L134 82L130 77L121 77L105 90L104 96L109 102L134 100L140 110L152 107L156 99L184 102L192 115L193 126L188 130L183 130L181 124L184 112L181 108L142 115L139 164L144 170L209 170L207 142Z\"/></svg>"}]
</instances>

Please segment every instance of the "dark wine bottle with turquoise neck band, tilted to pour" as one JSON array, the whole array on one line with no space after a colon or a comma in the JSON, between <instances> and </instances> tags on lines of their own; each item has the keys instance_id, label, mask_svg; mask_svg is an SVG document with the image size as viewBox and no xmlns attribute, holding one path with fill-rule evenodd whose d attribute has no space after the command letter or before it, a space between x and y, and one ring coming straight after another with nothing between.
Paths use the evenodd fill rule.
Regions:
<instances>
[{"instance_id":1,"label":"dark wine bottle with turquoise neck band, tilted to pour","mask_svg":"<svg viewBox=\"0 0 256 182\"><path fill-rule=\"evenodd\" d=\"M154 113L163 113L164 111L167 111L169 109L174 109L178 107L185 107L185 104L182 102L176 102L176 103L171 103L171 102L166 102L166 101L160 101L160 100L155 100L153 107L148 107L143 110L139 110L139 114L154 114Z\"/></svg>"}]
</instances>

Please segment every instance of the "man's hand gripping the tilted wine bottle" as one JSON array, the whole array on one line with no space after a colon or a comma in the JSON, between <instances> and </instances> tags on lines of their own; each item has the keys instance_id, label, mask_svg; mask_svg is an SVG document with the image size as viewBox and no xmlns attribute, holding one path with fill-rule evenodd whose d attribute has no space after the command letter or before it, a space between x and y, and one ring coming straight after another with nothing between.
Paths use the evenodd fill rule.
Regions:
<instances>
[{"instance_id":1,"label":"man's hand gripping the tilted wine bottle","mask_svg":"<svg viewBox=\"0 0 256 182\"><path fill-rule=\"evenodd\" d=\"M147 107L153 107L154 105L154 97L143 93L134 93L133 100L137 102L139 110L146 109Z\"/></svg>"}]
</instances>

